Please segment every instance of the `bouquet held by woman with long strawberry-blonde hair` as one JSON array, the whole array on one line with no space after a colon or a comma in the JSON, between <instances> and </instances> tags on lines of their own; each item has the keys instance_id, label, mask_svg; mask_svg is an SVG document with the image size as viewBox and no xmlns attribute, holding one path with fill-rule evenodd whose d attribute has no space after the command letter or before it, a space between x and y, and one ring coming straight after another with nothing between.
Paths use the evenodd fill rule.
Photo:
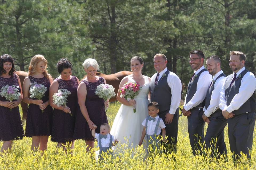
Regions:
<instances>
[{"instance_id":1,"label":"bouquet held by woman with long strawberry-blonde hair","mask_svg":"<svg viewBox=\"0 0 256 170\"><path fill-rule=\"evenodd\" d=\"M45 92L47 88L43 84L31 83L29 93L31 99L38 99L41 100L43 96L45 96ZM41 110L43 113L43 110Z\"/></svg>"}]
</instances>

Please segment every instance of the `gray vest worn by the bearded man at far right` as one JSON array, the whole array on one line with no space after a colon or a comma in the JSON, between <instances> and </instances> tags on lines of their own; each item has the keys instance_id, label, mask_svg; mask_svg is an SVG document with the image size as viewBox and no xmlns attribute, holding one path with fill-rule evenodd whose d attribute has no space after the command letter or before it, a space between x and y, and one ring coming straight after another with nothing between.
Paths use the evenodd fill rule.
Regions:
<instances>
[{"instance_id":1,"label":"gray vest worn by the bearded man at far right","mask_svg":"<svg viewBox=\"0 0 256 170\"><path fill-rule=\"evenodd\" d=\"M248 72L248 70L243 70L241 73L241 77L239 78L237 75L237 78L235 79L234 83L230 86L231 80L233 79L233 74L230 74L226 78L225 82L225 96L226 96L226 102L227 106L230 105L232 99L236 94L239 92L239 88L241 86L241 80L243 76ZM235 115L239 115L246 112L255 112L256 110L256 102L255 102L255 91L253 92L253 95L237 110L234 110L233 113Z\"/></svg>"}]
</instances>

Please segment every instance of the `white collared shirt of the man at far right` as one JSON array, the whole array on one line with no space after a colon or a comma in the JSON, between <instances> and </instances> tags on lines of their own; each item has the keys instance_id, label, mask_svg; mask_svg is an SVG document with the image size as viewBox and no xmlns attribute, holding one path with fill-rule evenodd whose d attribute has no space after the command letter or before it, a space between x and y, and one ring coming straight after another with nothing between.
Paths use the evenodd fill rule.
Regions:
<instances>
[{"instance_id":1,"label":"white collared shirt of the man at far right","mask_svg":"<svg viewBox=\"0 0 256 170\"><path fill-rule=\"evenodd\" d=\"M245 67L237 71L237 76L245 70ZM234 78L234 73L233 73ZM233 79L232 78L232 79ZM226 79L225 79L226 81ZM221 110L226 109L227 112L233 112L234 110L239 109L250 97L253 95L253 92L256 90L256 78L253 73L248 71L241 80L241 86L239 88L238 94L234 96L231 103L227 106L226 96L225 96L225 83L223 84L220 92L219 108Z\"/></svg>"}]
</instances>

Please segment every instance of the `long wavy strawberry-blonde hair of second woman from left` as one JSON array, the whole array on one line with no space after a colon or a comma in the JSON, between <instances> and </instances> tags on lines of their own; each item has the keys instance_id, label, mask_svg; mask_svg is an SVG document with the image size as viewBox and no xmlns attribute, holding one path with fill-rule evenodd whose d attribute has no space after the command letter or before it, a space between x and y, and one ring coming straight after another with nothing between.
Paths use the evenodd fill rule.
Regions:
<instances>
[{"instance_id":1,"label":"long wavy strawberry-blonde hair of second woman from left","mask_svg":"<svg viewBox=\"0 0 256 170\"><path fill-rule=\"evenodd\" d=\"M39 62L44 61L45 62L45 69L43 70L43 75L48 79L48 72L47 72L47 60L43 55L37 54L34 57L31 58L30 64L29 64L29 75L35 74L35 71L37 70L37 65Z\"/></svg>"}]
</instances>

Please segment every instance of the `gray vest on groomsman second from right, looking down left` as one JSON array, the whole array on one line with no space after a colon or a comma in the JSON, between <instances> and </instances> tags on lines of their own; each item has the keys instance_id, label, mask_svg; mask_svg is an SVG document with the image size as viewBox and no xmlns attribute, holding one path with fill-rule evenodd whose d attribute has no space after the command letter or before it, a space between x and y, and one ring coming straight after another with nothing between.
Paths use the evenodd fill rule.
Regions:
<instances>
[{"instance_id":1,"label":"gray vest on groomsman second from right, looking down left","mask_svg":"<svg viewBox=\"0 0 256 170\"><path fill-rule=\"evenodd\" d=\"M215 80L215 82L218 80L218 78L220 77L226 77L226 75L224 73L220 74L217 79ZM207 109L210 105L210 101L211 101L211 94L213 93L214 90L214 84L215 82L212 82L211 86L209 87L207 93L206 93L206 97L205 97L205 109ZM211 114L211 117L217 117L217 116L222 116L222 112L221 109L217 109L217 111L213 112Z\"/></svg>"}]
</instances>

